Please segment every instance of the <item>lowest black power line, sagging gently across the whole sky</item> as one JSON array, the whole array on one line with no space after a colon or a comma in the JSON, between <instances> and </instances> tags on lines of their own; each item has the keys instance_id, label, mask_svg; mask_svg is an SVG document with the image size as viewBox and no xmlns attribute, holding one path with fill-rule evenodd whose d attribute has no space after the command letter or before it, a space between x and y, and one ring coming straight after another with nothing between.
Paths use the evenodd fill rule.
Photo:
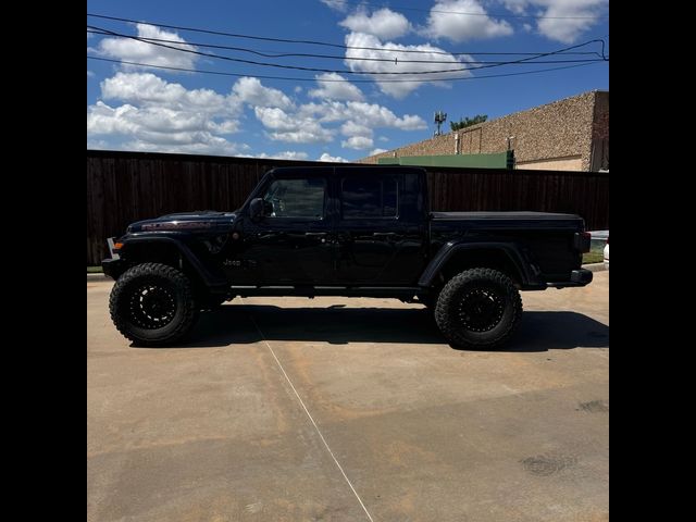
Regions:
<instances>
[{"instance_id":1,"label":"lowest black power line, sagging gently across the whole sky","mask_svg":"<svg viewBox=\"0 0 696 522\"><path fill-rule=\"evenodd\" d=\"M296 78L296 77L288 77L288 76L268 76L268 75L260 75L260 74L240 74L240 73L225 73L222 71L207 71L207 70L202 70L202 69L186 69L186 67L171 67L171 66L165 66L165 65L153 65L153 64L149 64L149 63L139 63L139 62L129 62L129 61L125 61L125 60L112 60L109 58L99 58L99 57L90 57L87 55L87 60L98 60L100 62L111 62L111 63L119 63L119 64L126 64L126 65L135 65L135 66L139 66L139 67L151 67L151 69L163 69L163 70L167 70L167 71L179 71L179 72L186 72L186 73L197 73L197 74L214 74L214 75L219 75L219 76L234 76L234 77L245 77L245 76L252 76L256 78L261 78L261 79L283 79L283 80L290 80L290 82L316 82L316 83L349 83L349 84L372 84L374 82L380 82L382 83L389 83L389 84L396 84L396 83L412 83L412 84L426 84L426 83L436 83L436 82L459 82L459 80L469 80L469 79L484 79L484 78L500 78L504 76L522 76L525 74L537 74L537 73L547 73L550 71L561 71L564 69L574 69L574 67L584 67L587 65L592 65L593 63L601 63L604 62L604 60L597 60L594 62L589 62L589 63L581 63L581 64L576 64L576 65L566 65L562 67L547 67L547 69L538 69L536 71L524 71L521 73L506 73L506 74L487 74L487 75L482 75L482 76L464 76L464 77L455 77L455 78L436 78L436 79L320 79L320 78Z\"/></svg>"}]
</instances>

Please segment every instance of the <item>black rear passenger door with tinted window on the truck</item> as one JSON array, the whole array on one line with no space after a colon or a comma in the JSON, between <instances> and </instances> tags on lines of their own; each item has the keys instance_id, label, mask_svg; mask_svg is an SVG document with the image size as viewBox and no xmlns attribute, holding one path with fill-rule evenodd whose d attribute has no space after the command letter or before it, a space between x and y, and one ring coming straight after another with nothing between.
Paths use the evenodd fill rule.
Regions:
<instances>
[{"instance_id":1,"label":"black rear passenger door with tinted window on the truck","mask_svg":"<svg viewBox=\"0 0 696 522\"><path fill-rule=\"evenodd\" d=\"M398 170L336 169L336 283L412 285L424 264L418 189Z\"/></svg>"}]
</instances>

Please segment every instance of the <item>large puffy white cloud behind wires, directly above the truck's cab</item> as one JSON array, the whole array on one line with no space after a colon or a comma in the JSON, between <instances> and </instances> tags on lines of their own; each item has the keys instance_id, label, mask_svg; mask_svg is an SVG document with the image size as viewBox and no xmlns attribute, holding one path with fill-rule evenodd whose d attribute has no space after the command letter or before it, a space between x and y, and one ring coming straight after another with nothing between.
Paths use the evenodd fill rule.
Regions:
<instances>
[{"instance_id":1,"label":"large puffy white cloud behind wires, directly above the truck's cab","mask_svg":"<svg viewBox=\"0 0 696 522\"><path fill-rule=\"evenodd\" d=\"M402 46L393 42L382 42L373 35L365 35L363 33L350 33L346 35L346 46L360 47L360 48L387 48L388 50L373 51L366 49L346 49L346 59L344 63L356 72L370 72L370 73L401 73L401 72L415 72L421 74L394 74L394 75L373 75L380 89L395 98L403 98L409 92L418 89L424 85L417 80L432 79L432 80L446 80L452 77L470 76L468 71L459 71L455 73L437 73L437 74L422 74L433 70L459 70L467 67L468 62L472 62L473 59L469 55L455 57L452 54L440 54L445 51L438 47L424 44L420 46ZM403 51L422 51L419 53L410 53ZM352 59L387 59L388 61L364 61ZM397 63L395 63L395 59ZM421 60L419 63L403 63L406 60ZM427 63L432 61L445 62L445 63ZM398 83L384 82L384 79L398 79ZM442 85L442 84L440 84Z\"/></svg>"}]
</instances>

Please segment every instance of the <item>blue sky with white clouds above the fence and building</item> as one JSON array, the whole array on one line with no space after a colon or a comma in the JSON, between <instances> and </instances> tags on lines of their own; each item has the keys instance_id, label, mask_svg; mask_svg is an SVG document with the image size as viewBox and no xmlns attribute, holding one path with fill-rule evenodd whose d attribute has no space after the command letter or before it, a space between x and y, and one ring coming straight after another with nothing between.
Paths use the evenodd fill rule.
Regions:
<instances>
[{"instance_id":1,"label":"blue sky with white clouds above the fence and building","mask_svg":"<svg viewBox=\"0 0 696 522\"><path fill-rule=\"evenodd\" d=\"M87 148L355 161L608 90L608 3L88 0Z\"/></svg>"}]
</instances>

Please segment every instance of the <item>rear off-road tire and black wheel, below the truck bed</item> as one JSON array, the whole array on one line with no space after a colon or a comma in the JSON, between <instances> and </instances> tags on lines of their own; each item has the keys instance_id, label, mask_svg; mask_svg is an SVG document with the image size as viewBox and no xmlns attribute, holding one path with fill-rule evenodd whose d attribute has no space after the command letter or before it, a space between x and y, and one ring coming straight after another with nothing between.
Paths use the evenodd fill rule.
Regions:
<instances>
[{"instance_id":1,"label":"rear off-road tire and black wheel, below the truck bed","mask_svg":"<svg viewBox=\"0 0 696 522\"><path fill-rule=\"evenodd\" d=\"M443 287L435 322L455 348L495 349L512 334L522 315L522 299L501 272L471 269Z\"/></svg>"}]
</instances>

